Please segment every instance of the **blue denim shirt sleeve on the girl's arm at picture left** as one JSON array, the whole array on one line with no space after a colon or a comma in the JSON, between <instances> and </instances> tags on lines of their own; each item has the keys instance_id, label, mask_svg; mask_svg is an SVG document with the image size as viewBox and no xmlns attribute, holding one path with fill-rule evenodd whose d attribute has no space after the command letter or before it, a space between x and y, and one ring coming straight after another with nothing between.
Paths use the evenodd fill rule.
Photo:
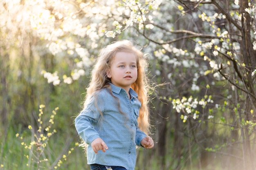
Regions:
<instances>
[{"instance_id":1,"label":"blue denim shirt sleeve on the girl's arm at picture left","mask_svg":"<svg viewBox=\"0 0 256 170\"><path fill-rule=\"evenodd\" d=\"M97 105L99 103L98 100L101 100L101 98L98 97L97 101L94 97L91 98L88 105L75 118L76 131L87 144L91 144L94 139L100 137L97 131L97 124L101 116L100 113L103 113L104 110L104 102L100 101L101 105Z\"/></svg>"}]
</instances>

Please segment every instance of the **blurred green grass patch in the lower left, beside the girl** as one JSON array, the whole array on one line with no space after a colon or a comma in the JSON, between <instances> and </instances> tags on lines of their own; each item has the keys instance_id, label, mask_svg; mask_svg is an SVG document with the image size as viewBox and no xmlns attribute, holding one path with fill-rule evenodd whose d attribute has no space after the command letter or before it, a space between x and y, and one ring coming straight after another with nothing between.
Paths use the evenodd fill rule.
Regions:
<instances>
[{"instance_id":1,"label":"blurred green grass patch in the lower left, beside the girl","mask_svg":"<svg viewBox=\"0 0 256 170\"><path fill-rule=\"evenodd\" d=\"M20 134L23 136L23 140L25 143L29 144L31 142L31 133L29 131L25 131ZM16 132L13 129L8 129L7 139L4 143L3 135L0 137L0 145L2 148L2 157L0 158L1 170L37 170L37 164L31 160L31 152L29 149L25 149L21 144L21 140L16 138ZM89 169L89 166L86 163L86 157L83 153L83 149L75 146L77 139L74 137L62 137L60 135L55 134L52 136L47 146L44 149L44 153L41 156L41 159L46 158L48 161L40 163L42 166L40 169L49 170L54 162L58 162L58 157L61 158L63 163L57 169L59 170L71 170L71 169ZM67 144L70 144L67 146ZM65 150L67 148L67 150ZM63 154L68 155L68 150L70 148L74 148L71 151L70 155L67 157L65 161L63 159ZM34 151L36 152L36 147L34 146ZM25 155L29 155L29 158ZM35 159L35 157L33 157ZM27 163L29 166L27 166Z\"/></svg>"}]
</instances>

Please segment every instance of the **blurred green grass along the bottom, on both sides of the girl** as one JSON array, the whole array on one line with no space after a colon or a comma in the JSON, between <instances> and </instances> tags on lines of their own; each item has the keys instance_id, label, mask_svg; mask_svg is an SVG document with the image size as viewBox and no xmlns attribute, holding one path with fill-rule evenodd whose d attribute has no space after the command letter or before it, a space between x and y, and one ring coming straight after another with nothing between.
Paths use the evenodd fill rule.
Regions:
<instances>
[{"instance_id":1,"label":"blurred green grass along the bottom, on both sides of the girl","mask_svg":"<svg viewBox=\"0 0 256 170\"><path fill-rule=\"evenodd\" d=\"M24 137L23 141L25 143L29 144L31 142L31 131L29 129L25 129L22 132L18 130L18 132ZM6 139L4 135L0 135L0 148L2 150L0 165L3 166L0 167L0 170L37 170L38 167L36 163L31 161L32 155L29 149L25 149L25 147L21 145L22 141L16 137L16 133L16 130L9 128ZM90 170L83 148L75 146L76 142L79 142L79 138L76 135L57 131L49 138L44 154L42 155L42 159L47 158L48 161L41 163L44 168L39 169L51 170L51 166L54 162L54 166L56 165L59 157L63 163L57 168L58 170ZM74 150L72 150L65 161L63 154L68 155L70 148L74 148ZM155 144L155 147L151 150L138 148L135 170L176 170L178 162L173 157L173 151L170 148L166 152L167 155L165 157L163 155L164 161L157 155L157 144ZM36 150L35 147L34 150ZM188 159L183 158L181 159L181 166L177 170L228 170L230 167L232 167L233 170L238 170L239 166L236 166L236 164L241 163L234 161L234 159L227 159L225 155L206 153L206 157L201 155L201 164L199 164L198 150L195 148L191 152L193 153L192 165L190 165ZM24 155L29 155L29 159ZM186 157L186 155L183 156ZM27 166L27 163L29 163L29 166Z\"/></svg>"}]
</instances>

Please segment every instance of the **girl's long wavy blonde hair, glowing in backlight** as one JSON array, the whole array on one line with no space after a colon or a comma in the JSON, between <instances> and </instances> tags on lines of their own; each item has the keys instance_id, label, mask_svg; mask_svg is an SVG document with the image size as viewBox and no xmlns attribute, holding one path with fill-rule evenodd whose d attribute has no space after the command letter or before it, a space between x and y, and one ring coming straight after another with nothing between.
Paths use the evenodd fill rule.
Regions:
<instances>
[{"instance_id":1,"label":"girl's long wavy blonde hair, glowing in backlight","mask_svg":"<svg viewBox=\"0 0 256 170\"><path fill-rule=\"evenodd\" d=\"M149 110L148 110L148 78L146 75L147 54L141 52L141 47L135 44L134 41L121 40L115 41L101 50L96 63L92 69L91 80L87 88L85 96L84 107L86 107L91 96L98 90L108 87L110 78L107 76L110 70L111 62L113 61L117 52L134 52L137 59L137 80L132 83L131 88L138 94L138 99L141 102L139 110L138 124L141 131L149 133Z\"/></svg>"}]
</instances>

